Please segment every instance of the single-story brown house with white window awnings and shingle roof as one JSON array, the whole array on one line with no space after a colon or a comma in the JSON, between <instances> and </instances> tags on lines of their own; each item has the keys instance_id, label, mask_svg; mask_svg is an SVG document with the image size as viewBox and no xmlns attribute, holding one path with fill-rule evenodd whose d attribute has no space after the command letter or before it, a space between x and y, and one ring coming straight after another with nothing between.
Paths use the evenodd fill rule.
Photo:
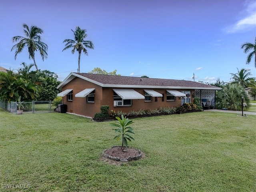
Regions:
<instances>
[{"instance_id":1,"label":"single-story brown house with white window awnings and shingle roof","mask_svg":"<svg viewBox=\"0 0 256 192\"><path fill-rule=\"evenodd\" d=\"M195 96L203 102L215 100L221 88L193 81L141 78L88 73L70 73L58 86L67 112L94 117L100 106L130 112L141 109L182 106ZM201 102L202 103L202 102ZM212 103L213 104L213 103Z\"/></svg>"}]
</instances>

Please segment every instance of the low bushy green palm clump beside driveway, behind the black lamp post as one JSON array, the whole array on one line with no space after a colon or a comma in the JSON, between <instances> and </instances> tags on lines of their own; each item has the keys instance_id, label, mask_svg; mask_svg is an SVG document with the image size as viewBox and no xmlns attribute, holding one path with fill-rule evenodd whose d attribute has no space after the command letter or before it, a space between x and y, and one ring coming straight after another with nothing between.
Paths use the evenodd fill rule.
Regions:
<instances>
[{"instance_id":1,"label":"low bushy green palm clump beside driveway, behind the black lamp post","mask_svg":"<svg viewBox=\"0 0 256 192\"><path fill-rule=\"evenodd\" d=\"M250 100L244 87L239 84L227 84L218 91L216 95L216 108L227 108L229 110L242 110L242 96L247 104L245 109L249 108Z\"/></svg>"}]
</instances>

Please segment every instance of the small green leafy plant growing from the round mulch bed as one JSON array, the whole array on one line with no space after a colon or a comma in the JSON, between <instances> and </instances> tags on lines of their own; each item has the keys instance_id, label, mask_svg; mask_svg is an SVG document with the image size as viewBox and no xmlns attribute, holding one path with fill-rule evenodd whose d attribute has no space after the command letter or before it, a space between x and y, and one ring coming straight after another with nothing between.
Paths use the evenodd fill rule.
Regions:
<instances>
[{"instance_id":1,"label":"small green leafy plant growing from the round mulch bed","mask_svg":"<svg viewBox=\"0 0 256 192\"><path fill-rule=\"evenodd\" d=\"M128 118L124 118L122 115L121 118L116 117L116 123L111 123L112 126L117 127L116 129L113 129L115 133L118 135L114 137L117 141L121 138L122 139L122 147L121 150L123 149L123 146L128 147L128 141L131 142L134 140L130 134L134 134L133 128L130 127L130 124L134 123L132 120L129 120Z\"/></svg>"}]
</instances>

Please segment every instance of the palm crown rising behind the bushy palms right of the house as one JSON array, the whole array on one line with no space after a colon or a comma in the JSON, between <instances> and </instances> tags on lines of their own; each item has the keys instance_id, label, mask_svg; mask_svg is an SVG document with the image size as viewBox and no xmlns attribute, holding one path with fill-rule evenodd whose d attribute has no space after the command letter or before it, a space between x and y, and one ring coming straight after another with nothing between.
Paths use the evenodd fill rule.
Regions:
<instances>
[{"instance_id":1,"label":"palm crown rising behind the bushy palms right of the house","mask_svg":"<svg viewBox=\"0 0 256 192\"><path fill-rule=\"evenodd\" d=\"M242 68L239 71L237 68L237 71L238 72L236 74L230 73L232 75L232 78L231 78L232 83L237 83L244 88L247 88L249 86L254 86L254 84L251 83L251 80L254 80L254 78L249 77L252 75L251 72L248 72L249 70Z\"/></svg>"}]
</instances>

